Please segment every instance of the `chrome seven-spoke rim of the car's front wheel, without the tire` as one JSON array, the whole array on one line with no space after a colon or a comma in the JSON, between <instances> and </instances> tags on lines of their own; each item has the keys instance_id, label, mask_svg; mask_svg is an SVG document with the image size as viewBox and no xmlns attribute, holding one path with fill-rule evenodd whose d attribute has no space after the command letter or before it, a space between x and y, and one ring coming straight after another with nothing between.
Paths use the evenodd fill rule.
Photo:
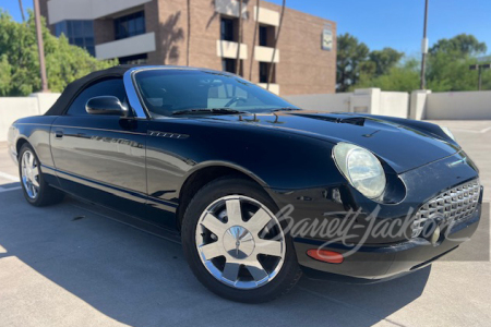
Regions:
<instances>
[{"instance_id":1,"label":"chrome seven-spoke rim of the car's front wheel, without the tire","mask_svg":"<svg viewBox=\"0 0 491 327\"><path fill-rule=\"evenodd\" d=\"M209 274L237 289L266 284L285 259L285 235L278 219L266 206L242 195L212 203L197 221L195 238Z\"/></svg>"}]
</instances>

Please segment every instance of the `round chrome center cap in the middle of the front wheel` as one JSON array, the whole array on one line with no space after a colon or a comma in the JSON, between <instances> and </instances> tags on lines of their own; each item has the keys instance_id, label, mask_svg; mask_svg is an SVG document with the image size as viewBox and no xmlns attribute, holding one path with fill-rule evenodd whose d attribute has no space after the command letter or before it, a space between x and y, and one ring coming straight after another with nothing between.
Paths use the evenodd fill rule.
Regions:
<instances>
[{"instance_id":1,"label":"round chrome center cap in the middle of the front wheel","mask_svg":"<svg viewBox=\"0 0 491 327\"><path fill-rule=\"evenodd\" d=\"M246 228L232 226L224 234L224 247L230 256L243 259L252 254L255 242L251 232Z\"/></svg>"}]
</instances>

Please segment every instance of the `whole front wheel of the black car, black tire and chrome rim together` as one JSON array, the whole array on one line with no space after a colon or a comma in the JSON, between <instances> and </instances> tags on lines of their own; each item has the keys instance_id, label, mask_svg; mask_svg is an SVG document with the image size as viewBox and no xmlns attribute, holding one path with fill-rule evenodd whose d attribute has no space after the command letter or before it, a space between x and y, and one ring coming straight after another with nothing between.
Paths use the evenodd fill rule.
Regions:
<instances>
[{"instance_id":1,"label":"whole front wheel of the black car, black tire and chrome rim together","mask_svg":"<svg viewBox=\"0 0 491 327\"><path fill-rule=\"evenodd\" d=\"M301 270L276 211L267 193L242 178L202 187L184 213L181 234L195 277L237 302L267 302L288 292Z\"/></svg>"}]
</instances>

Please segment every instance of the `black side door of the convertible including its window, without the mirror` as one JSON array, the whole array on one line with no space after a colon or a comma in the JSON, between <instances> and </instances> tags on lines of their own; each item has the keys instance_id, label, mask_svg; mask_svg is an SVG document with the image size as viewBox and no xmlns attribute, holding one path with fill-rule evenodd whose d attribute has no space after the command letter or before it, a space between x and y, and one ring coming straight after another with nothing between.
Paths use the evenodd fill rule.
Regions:
<instances>
[{"instance_id":1,"label":"black side door of the convertible including its window, without the mirror","mask_svg":"<svg viewBox=\"0 0 491 327\"><path fill-rule=\"evenodd\" d=\"M61 186L70 193L129 214L146 203L145 142L147 121L88 114L85 105L97 96L127 102L121 78L93 83L51 126L51 153Z\"/></svg>"}]
</instances>

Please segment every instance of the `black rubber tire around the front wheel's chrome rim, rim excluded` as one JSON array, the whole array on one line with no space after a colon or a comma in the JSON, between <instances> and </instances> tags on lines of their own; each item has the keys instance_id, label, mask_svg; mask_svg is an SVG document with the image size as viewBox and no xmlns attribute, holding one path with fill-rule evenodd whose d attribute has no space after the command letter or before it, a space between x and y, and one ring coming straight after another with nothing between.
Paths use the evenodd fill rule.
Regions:
<instances>
[{"instance_id":1,"label":"black rubber tire around the front wheel's chrome rim, rim excluded","mask_svg":"<svg viewBox=\"0 0 491 327\"><path fill-rule=\"evenodd\" d=\"M182 221L182 246L188 263L196 278L214 293L229 300L260 303L271 301L291 288L298 280L299 267L291 238L285 234L286 254L279 272L266 284L251 290L240 290L226 286L213 277L203 265L196 249L195 230L202 213L214 201L227 195L244 195L259 201L272 213L277 213L276 204L267 193L251 181L240 178L224 178L201 189L191 199Z\"/></svg>"}]
</instances>

